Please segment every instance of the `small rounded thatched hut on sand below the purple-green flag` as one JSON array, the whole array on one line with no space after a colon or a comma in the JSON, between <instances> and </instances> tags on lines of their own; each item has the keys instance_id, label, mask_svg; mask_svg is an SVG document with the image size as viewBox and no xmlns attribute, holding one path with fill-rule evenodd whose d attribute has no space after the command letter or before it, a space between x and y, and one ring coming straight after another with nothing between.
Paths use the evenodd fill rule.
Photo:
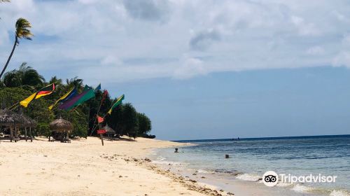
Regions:
<instances>
[{"instance_id":1,"label":"small rounded thatched hut on sand below the purple-green flag","mask_svg":"<svg viewBox=\"0 0 350 196\"><path fill-rule=\"evenodd\" d=\"M51 130L50 137L60 140L61 142L71 143L71 140L69 139L69 133L73 130L73 125L68 120L59 118L53 120L49 126ZM48 141L51 141L50 137L48 137Z\"/></svg>"}]
</instances>

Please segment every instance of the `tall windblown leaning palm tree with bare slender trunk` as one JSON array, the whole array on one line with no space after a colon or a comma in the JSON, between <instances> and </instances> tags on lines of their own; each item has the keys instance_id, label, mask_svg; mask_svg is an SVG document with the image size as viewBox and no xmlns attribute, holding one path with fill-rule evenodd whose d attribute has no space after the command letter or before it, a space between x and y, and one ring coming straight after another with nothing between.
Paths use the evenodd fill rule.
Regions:
<instances>
[{"instance_id":1,"label":"tall windblown leaning palm tree with bare slender trunk","mask_svg":"<svg viewBox=\"0 0 350 196\"><path fill-rule=\"evenodd\" d=\"M5 64L5 66L3 67L3 70L0 73L0 78L3 75L3 72L5 72L8 63L10 62L10 59L13 55L13 52L15 51L16 45L18 45L20 42L18 41L18 38L25 38L25 39L29 39L31 40L31 36L33 36L33 34L31 34L29 28L31 27L30 22L28 22L28 20L25 20L24 18L19 18L16 22L16 32L15 32L15 43L13 44L13 48L12 51L10 53L10 56L7 59L7 62Z\"/></svg>"}]
</instances>

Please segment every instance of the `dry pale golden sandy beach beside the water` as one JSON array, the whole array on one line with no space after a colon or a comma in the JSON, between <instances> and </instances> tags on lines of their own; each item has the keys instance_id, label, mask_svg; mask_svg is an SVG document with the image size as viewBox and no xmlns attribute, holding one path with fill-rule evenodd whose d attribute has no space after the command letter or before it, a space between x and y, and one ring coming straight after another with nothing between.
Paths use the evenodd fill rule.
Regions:
<instances>
[{"instance_id":1,"label":"dry pale golden sandy beach beside the water","mask_svg":"<svg viewBox=\"0 0 350 196\"><path fill-rule=\"evenodd\" d=\"M93 137L71 144L2 141L0 195L227 195L147 159L152 148L179 145L143 138L105 146Z\"/></svg>"}]
</instances>

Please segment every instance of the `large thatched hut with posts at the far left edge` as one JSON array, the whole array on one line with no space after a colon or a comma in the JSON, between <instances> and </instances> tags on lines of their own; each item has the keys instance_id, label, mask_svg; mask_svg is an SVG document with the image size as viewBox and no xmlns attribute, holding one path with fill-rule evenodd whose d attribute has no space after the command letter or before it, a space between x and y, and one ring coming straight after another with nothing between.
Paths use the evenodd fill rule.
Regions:
<instances>
[{"instance_id":1,"label":"large thatched hut with posts at the far left edge","mask_svg":"<svg viewBox=\"0 0 350 196\"><path fill-rule=\"evenodd\" d=\"M1 137L1 139L10 139L16 142L20 140L20 130L25 130L25 140L27 141L27 128L29 128L29 135L31 141L33 141L33 137L31 135L31 128L36 127L36 122L25 116L23 114L18 114L8 109L0 110L0 128L1 130L9 130L9 137Z\"/></svg>"}]
</instances>

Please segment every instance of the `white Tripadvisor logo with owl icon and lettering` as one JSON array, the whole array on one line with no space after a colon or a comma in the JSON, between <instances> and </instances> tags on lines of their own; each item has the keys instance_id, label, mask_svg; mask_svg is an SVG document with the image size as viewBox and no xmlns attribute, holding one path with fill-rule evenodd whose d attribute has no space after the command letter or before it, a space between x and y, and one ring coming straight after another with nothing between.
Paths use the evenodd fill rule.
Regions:
<instances>
[{"instance_id":1,"label":"white Tripadvisor logo with owl icon and lettering","mask_svg":"<svg viewBox=\"0 0 350 196\"><path fill-rule=\"evenodd\" d=\"M337 176L323 176L321 174L307 176L293 176L291 174L276 174L274 171L267 171L262 175L262 182L265 186L276 186L279 182L281 183L335 183Z\"/></svg>"}]
</instances>

